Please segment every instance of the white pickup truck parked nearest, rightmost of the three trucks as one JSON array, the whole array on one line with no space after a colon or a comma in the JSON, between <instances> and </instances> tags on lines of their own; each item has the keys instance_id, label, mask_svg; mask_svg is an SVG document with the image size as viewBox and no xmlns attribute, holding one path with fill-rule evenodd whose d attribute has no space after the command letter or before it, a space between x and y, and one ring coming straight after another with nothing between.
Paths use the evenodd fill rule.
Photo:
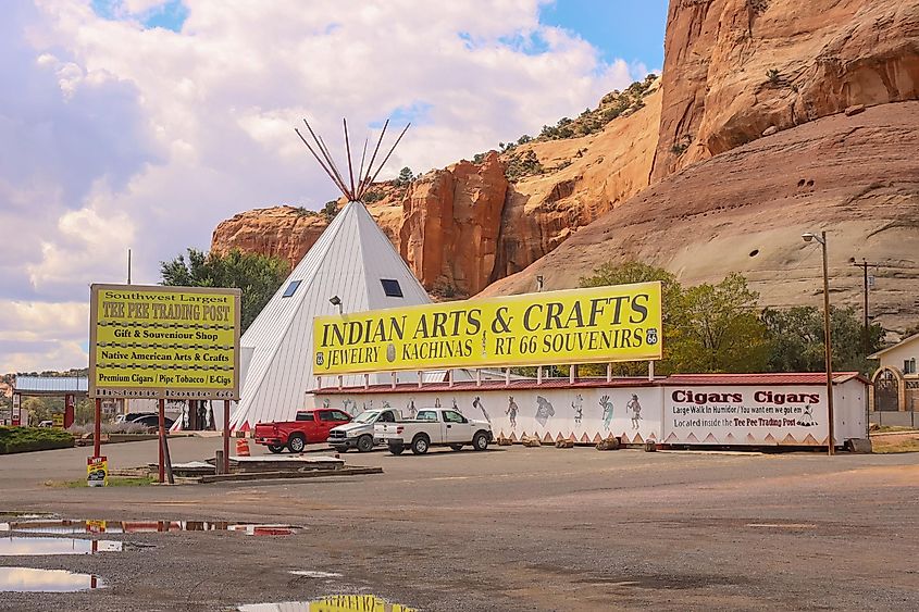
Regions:
<instances>
[{"instance_id":1,"label":"white pickup truck parked nearest, rightmost of the three trucks","mask_svg":"<svg viewBox=\"0 0 919 612\"><path fill-rule=\"evenodd\" d=\"M406 447L414 454L424 454L432 446L460 450L472 445L475 450L485 450L492 441L492 425L467 419L456 410L426 408L412 420L377 423L374 437L386 442L393 454L401 454Z\"/></svg>"}]
</instances>

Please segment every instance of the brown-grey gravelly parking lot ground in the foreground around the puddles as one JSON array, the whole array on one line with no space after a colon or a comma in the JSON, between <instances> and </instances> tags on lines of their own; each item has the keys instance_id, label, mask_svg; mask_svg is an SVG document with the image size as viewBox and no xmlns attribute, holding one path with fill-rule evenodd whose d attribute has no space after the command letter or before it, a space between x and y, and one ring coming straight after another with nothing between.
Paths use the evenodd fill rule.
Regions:
<instances>
[{"instance_id":1,"label":"brown-grey gravelly parking lot ground in the foreground around the puddles","mask_svg":"<svg viewBox=\"0 0 919 612\"><path fill-rule=\"evenodd\" d=\"M173 460L219 439L172 442ZM258 447L253 453L258 453ZM86 557L0 557L105 588L0 594L0 610L233 610L372 592L419 610L916 610L919 454L376 451L383 475L52 488L88 449L0 458L0 512L289 523L291 536L167 533ZM115 467L156 442L104 447ZM90 537L90 536L83 536ZM290 574L307 570L337 577Z\"/></svg>"}]
</instances>

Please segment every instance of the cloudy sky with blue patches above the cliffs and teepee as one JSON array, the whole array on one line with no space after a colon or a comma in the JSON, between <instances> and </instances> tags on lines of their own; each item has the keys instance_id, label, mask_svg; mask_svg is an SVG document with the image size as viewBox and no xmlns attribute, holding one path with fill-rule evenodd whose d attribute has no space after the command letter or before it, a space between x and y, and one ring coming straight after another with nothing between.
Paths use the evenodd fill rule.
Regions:
<instances>
[{"instance_id":1,"label":"cloudy sky with blue patches above the cliffs and teepee","mask_svg":"<svg viewBox=\"0 0 919 612\"><path fill-rule=\"evenodd\" d=\"M413 123L426 171L663 63L666 0L4 0L0 373L85 367L89 285L334 188L293 128ZM353 136L352 136L353 137ZM331 142L330 142L331 143ZM384 174L386 174L384 172Z\"/></svg>"}]
</instances>

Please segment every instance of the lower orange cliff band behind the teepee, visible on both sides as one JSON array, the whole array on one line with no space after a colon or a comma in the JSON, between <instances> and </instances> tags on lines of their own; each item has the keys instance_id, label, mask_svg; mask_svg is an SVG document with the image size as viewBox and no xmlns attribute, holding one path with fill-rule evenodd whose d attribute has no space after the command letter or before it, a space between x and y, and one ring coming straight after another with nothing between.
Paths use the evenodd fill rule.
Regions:
<instances>
[{"instance_id":1,"label":"lower orange cliff band behind the teepee, visible on both sides","mask_svg":"<svg viewBox=\"0 0 919 612\"><path fill-rule=\"evenodd\" d=\"M657 143L661 93L589 136L533 141L429 172L408 188L380 184L368 211L424 287L445 297L474 295L519 272L579 227L647 187ZM537 170L514 182L511 158ZM257 209L222 222L211 249L278 255L294 266L327 225L293 207Z\"/></svg>"}]
</instances>

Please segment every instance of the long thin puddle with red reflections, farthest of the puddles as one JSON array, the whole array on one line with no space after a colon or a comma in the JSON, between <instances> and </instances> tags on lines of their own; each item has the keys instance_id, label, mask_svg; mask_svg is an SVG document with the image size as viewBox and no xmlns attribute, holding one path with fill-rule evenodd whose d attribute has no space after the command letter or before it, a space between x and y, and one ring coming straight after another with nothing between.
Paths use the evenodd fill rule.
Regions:
<instances>
[{"instance_id":1,"label":"long thin puddle with red reflections, farthest of the puddles","mask_svg":"<svg viewBox=\"0 0 919 612\"><path fill-rule=\"evenodd\" d=\"M10 521L0 532L28 534L145 534L167 532L243 532L250 536L289 536L296 525L254 525L222 521Z\"/></svg>"}]
</instances>

